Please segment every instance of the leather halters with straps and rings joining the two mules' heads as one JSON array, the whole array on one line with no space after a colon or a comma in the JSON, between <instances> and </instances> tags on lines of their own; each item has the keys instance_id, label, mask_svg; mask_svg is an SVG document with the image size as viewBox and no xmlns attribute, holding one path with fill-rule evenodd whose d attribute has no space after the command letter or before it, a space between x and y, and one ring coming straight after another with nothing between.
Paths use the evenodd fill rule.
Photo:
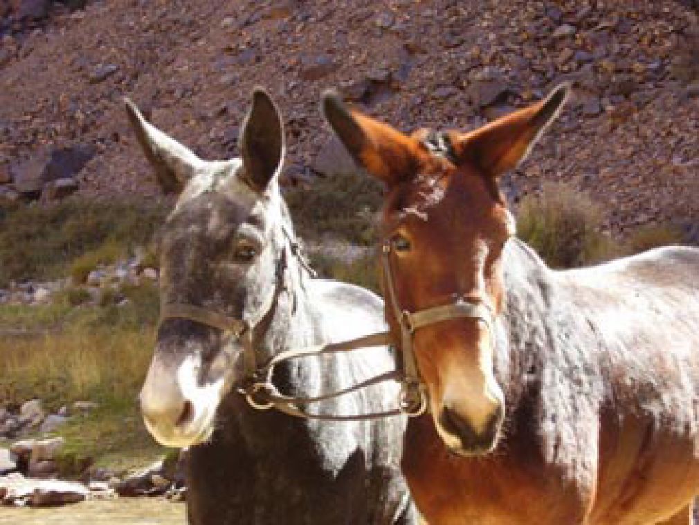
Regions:
<instances>
[{"instance_id":1,"label":"leather halters with straps and rings joining the two mules' heads","mask_svg":"<svg viewBox=\"0 0 699 525\"><path fill-rule=\"evenodd\" d=\"M287 231L284 231L289 241L291 254L298 259L301 266L315 276L305 260L298 245ZM283 257L286 257L285 255ZM280 261L281 262L281 261ZM254 345L254 330L259 322L265 319L273 310L280 292L286 289L284 283L285 268L278 268L278 282L271 299L264 303L261 315L255 322L249 322L236 317L230 317L219 312L203 308L189 303L164 303L161 305L160 322L166 319L189 319L194 322L212 326L223 333L229 333L240 341L243 347L243 377L234 388L245 397L250 407L256 410L269 410L275 408L288 415L305 419L321 419L326 421L363 421L395 415L408 415L417 417L428 410L427 391L421 379L415 352L413 350L413 337L415 331L424 326L446 321L449 319L478 319L484 322L491 336L493 335L494 315L492 308L484 301L459 297L453 303L426 308L417 312L403 310L396 296L394 275L391 270L391 243L387 240L382 246L382 264L384 278L387 282L387 301L394 310L394 317L401 329L401 336L396 338L391 331L372 333L368 336L345 340L340 343L326 343L298 350L286 350L275 354L271 359L259 364L257 351ZM283 265L285 266L285 264ZM387 308L389 305L387 305ZM393 371L370 377L368 380L354 384L352 387L340 389L319 396L301 397L281 394L272 381L275 367L284 361L310 356L322 356L340 352L352 352L367 347L394 345L396 366ZM312 405L338 396L343 396L354 391L366 389L375 384L396 381L401 384L401 394L398 408L382 412L370 412L358 415L324 415L308 412L300 405Z\"/></svg>"}]
</instances>

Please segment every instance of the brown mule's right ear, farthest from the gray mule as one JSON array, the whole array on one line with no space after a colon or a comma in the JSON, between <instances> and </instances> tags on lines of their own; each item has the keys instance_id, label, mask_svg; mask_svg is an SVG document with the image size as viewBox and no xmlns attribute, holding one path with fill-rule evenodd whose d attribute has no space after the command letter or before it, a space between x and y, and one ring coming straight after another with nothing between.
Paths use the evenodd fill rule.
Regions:
<instances>
[{"instance_id":1,"label":"brown mule's right ear, farthest from the gray mule","mask_svg":"<svg viewBox=\"0 0 699 525\"><path fill-rule=\"evenodd\" d=\"M454 141L456 157L461 162L476 164L493 177L515 168L558 116L569 91L568 84L559 85L533 106L459 136Z\"/></svg>"}]
</instances>

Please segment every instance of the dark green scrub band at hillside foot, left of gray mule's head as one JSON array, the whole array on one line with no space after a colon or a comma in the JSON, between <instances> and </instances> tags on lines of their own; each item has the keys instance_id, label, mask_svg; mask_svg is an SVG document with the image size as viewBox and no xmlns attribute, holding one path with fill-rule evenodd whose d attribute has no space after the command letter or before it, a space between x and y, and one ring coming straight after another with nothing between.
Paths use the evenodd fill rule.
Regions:
<instances>
[{"instance_id":1,"label":"dark green scrub band at hillside foot, left of gray mule's head","mask_svg":"<svg viewBox=\"0 0 699 525\"><path fill-rule=\"evenodd\" d=\"M87 275L87 268L99 262L148 245L166 213L165 206L83 199L4 206L0 208L0 286L10 280L62 278L73 272Z\"/></svg>"}]
</instances>

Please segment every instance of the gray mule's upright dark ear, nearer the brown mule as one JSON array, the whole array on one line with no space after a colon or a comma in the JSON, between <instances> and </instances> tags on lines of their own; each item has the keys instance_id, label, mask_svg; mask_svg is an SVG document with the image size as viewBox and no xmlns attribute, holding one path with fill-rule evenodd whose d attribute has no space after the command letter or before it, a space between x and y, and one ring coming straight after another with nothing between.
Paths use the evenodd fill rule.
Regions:
<instances>
[{"instance_id":1,"label":"gray mule's upright dark ear, nearer the brown mule","mask_svg":"<svg viewBox=\"0 0 699 525\"><path fill-rule=\"evenodd\" d=\"M243 179L252 189L264 192L282 164L284 129L277 106L259 87L252 93L252 106L243 122L240 156Z\"/></svg>"}]
</instances>

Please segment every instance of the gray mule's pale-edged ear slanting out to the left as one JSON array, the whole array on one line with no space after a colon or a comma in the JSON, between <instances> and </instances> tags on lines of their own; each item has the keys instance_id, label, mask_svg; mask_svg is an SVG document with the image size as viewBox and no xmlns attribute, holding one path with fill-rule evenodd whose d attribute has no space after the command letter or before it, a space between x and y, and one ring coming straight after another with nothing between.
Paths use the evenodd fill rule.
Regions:
<instances>
[{"instance_id":1,"label":"gray mule's pale-edged ear slanting out to the left","mask_svg":"<svg viewBox=\"0 0 699 525\"><path fill-rule=\"evenodd\" d=\"M184 145L167 136L143 118L136 104L124 98L127 115L136 138L152 164L155 176L166 193L180 192L205 164Z\"/></svg>"}]
</instances>

